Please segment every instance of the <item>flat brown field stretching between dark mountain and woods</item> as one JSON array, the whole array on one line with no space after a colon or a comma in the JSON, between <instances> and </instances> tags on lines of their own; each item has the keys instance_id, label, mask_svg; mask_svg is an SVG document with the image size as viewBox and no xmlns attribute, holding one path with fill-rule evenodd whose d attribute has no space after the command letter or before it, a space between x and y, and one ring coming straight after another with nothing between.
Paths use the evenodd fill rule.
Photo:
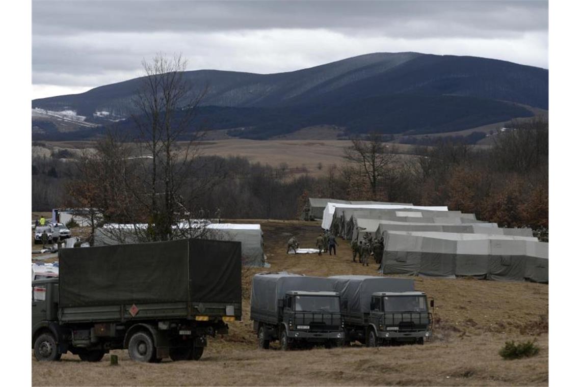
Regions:
<instances>
[{"instance_id":1,"label":"flat brown field stretching between dark mountain and woods","mask_svg":"<svg viewBox=\"0 0 581 387\"><path fill-rule=\"evenodd\" d=\"M67 142L35 142L33 146L34 155L50 155L51 151L69 149L91 149L94 143L87 141L67 141ZM344 149L350 145L349 140L210 140L200 142L200 154L218 155L222 157L243 156L248 157L252 162L261 162L278 167L283 162L289 168L296 169L296 173L309 172L311 175L325 175L328 168L333 165L340 165L343 159ZM392 144L389 144L392 146ZM397 153L406 153L413 149L413 146L397 144ZM412 157L402 155L401 157ZM319 169L321 163L321 169Z\"/></svg>"}]
</instances>

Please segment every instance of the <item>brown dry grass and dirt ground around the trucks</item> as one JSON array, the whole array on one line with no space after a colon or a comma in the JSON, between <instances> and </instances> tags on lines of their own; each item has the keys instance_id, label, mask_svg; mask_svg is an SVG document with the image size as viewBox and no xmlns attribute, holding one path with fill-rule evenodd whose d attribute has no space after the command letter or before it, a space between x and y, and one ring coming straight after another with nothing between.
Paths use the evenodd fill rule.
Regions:
<instances>
[{"instance_id":1,"label":"brown dry grass and dirt ground around the trucks","mask_svg":"<svg viewBox=\"0 0 581 387\"><path fill-rule=\"evenodd\" d=\"M252 223L252 221L246 221ZM415 278L415 287L435 299L434 338L425 345L384 348L293 350L257 348L250 313L250 283L259 272L286 270L329 276L378 275L375 263L353 263L339 240L336 256L286 255L291 235L301 247L314 247L316 222L260 220L270 269L243 269L243 321L210 338L200 361L131 361L119 366L83 363L64 355L56 363L32 357L33 385L548 385L548 286L545 284ZM503 360L505 341L535 340L539 355Z\"/></svg>"}]
</instances>

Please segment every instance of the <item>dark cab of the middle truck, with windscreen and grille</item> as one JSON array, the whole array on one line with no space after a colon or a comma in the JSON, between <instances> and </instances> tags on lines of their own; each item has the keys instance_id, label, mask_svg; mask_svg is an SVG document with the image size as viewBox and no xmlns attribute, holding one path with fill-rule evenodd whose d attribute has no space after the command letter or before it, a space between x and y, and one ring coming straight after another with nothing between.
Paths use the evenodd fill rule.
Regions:
<instances>
[{"instance_id":1,"label":"dark cab of the middle truck, with windscreen and grille","mask_svg":"<svg viewBox=\"0 0 581 387\"><path fill-rule=\"evenodd\" d=\"M343 341L338 292L288 291L282 301L286 337L281 346L324 343L330 348Z\"/></svg>"}]
</instances>

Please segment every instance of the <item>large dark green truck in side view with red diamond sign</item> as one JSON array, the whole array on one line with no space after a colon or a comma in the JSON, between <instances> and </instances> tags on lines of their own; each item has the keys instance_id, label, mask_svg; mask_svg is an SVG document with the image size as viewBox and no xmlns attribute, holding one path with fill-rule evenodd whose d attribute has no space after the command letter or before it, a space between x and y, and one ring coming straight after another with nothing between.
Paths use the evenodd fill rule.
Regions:
<instances>
[{"instance_id":1,"label":"large dark green truck in side view with red diamond sign","mask_svg":"<svg viewBox=\"0 0 581 387\"><path fill-rule=\"evenodd\" d=\"M37 360L199 360L206 337L241 320L241 244L211 240L59 250L59 277L33 281Z\"/></svg>"}]
</instances>

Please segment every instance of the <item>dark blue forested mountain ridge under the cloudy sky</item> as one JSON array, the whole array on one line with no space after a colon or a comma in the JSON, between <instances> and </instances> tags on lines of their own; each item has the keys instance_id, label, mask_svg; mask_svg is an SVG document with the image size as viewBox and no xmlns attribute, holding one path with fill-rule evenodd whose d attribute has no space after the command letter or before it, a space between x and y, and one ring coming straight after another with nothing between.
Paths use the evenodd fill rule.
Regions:
<instances>
[{"instance_id":1,"label":"dark blue forested mountain ridge under the cloudy sky","mask_svg":"<svg viewBox=\"0 0 581 387\"><path fill-rule=\"evenodd\" d=\"M116 119L135 113L131 99L140 79L35 99L32 105L74 110L88 122L107 125L96 112ZM520 104L548 108L548 70L473 56L370 53L285 73L206 69L185 71L184 79L192 84L192 96L209 84L199 107L207 122L232 125L216 129L249 126L243 136L254 138L321 124L353 133L456 131L532 115ZM211 113L216 107L225 108L219 116ZM420 120L418 114L425 117ZM131 131L130 123L121 126Z\"/></svg>"}]
</instances>

